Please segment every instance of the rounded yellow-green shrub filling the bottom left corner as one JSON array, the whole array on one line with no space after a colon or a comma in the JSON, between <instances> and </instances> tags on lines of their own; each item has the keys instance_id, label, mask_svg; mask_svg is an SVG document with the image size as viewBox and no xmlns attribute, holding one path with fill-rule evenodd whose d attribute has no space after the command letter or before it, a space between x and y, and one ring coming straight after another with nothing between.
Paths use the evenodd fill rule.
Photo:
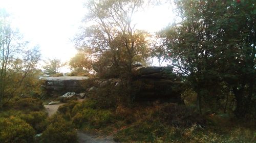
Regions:
<instances>
[{"instance_id":1,"label":"rounded yellow-green shrub filling the bottom left corner","mask_svg":"<svg viewBox=\"0 0 256 143\"><path fill-rule=\"evenodd\" d=\"M17 117L0 119L0 142L2 143L30 143L34 141L34 135L34 129Z\"/></svg>"}]
</instances>

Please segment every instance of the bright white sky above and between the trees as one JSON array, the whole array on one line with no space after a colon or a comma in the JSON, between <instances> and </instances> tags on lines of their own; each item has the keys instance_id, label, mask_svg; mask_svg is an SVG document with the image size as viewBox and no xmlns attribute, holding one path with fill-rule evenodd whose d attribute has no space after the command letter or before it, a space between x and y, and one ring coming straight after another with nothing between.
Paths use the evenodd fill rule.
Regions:
<instances>
[{"instance_id":1,"label":"bright white sky above and between the trees","mask_svg":"<svg viewBox=\"0 0 256 143\"><path fill-rule=\"evenodd\" d=\"M76 50L72 39L86 14L86 0L0 0L0 8L12 16L12 24L31 45L38 45L42 57L69 61ZM137 28L151 33L174 19L168 6L156 6L137 14Z\"/></svg>"}]
</instances>

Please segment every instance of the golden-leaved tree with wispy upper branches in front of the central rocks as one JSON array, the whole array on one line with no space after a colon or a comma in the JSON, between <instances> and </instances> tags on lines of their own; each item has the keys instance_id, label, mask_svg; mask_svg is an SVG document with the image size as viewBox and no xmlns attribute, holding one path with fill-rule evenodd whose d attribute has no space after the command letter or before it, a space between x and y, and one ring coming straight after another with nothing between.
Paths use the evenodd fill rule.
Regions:
<instances>
[{"instance_id":1,"label":"golden-leaved tree with wispy upper branches in front of the central rocks","mask_svg":"<svg viewBox=\"0 0 256 143\"><path fill-rule=\"evenodd\" d=\"M143 7L144 2L89 1L86 4L89 14L84 20L89 26L77 38L77 45L91 49L95 58L108 53L111 65L128 91L131 89L132 64L148 58L147 33L136 30L132 21L134 13Z\"/></svg>"}]
</instances>

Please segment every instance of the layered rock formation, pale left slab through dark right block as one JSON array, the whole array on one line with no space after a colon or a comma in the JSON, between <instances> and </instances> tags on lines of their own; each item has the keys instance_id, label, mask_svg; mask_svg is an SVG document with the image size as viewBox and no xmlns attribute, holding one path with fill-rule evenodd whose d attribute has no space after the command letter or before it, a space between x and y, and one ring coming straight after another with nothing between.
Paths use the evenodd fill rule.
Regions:
<instances>
[{"instance_id":1,"label":"layered rock formation, pale left slab through dark right block","mask_svg":"<svg viewBox=\"0 0 256 143\"><path fill-rule=\"evenodd\" d=\"M88 77L47 77L42 78L43 87L48 92L56 92L60 95L67 92L91 92L98 88L121 86L119 78L93 79L91 86L82 85ZM173 73L172 67L134 67L133 68L133 98L135 101L167 101L183 103L181 93L183 82Z\"/></svg>"}]
</instances>

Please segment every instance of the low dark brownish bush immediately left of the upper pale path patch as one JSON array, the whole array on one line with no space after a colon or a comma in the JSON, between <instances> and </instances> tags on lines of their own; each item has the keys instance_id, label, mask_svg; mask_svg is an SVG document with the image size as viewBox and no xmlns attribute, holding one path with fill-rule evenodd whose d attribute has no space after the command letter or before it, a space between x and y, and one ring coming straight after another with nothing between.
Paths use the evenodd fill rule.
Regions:
<instances>
[{"instance_id":1,"label":"low dark brownish bush immediately left of the upper pale path patch","mask_svg":"<svg viewBox=\"0 0 256 143\"><path fill-rule=\"evenodd\" d=\"M16 110L26 110L26 111L39 111L44 109L44 106L42 105L42 101L37 98L20 98L15 103L12 103L11 107Z\"/></svg>"}]
</instances>

